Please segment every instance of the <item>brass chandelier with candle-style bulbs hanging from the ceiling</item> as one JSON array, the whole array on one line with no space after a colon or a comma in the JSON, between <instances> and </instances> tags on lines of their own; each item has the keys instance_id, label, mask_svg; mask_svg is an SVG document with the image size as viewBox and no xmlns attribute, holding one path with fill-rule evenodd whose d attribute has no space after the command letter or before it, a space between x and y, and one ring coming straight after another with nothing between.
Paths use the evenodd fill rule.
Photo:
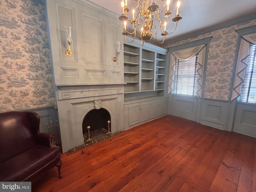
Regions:
<instances>
[{"instance_id":1,"label":"brass chandelier with candle-style bulbs hanging from the ceiling","mask_svg":"<svg viewBox=\"0 0 256 192\"><path fill-rule=\"evenodd\" d=\"M136 8L132 10L132 19L129 19L127 16L127 13L130 11L130 9L127 6L127 0L122 0L122 9L123 13L119 17L119 20L122 21L123 23L123 28L124 32L122 34L125 36L125 41L127 43L131 43L134 41L136 37L136 30L137 28L140 30L140 37L139 39L141 40L141 43L143 45L144 42L147 40L150 40L152 38L152 32L153 30L155 31L155 39L158 43L162 44L165 40L165 36L169 35L174 32L174 30L177 27L177 22L182 19L179 15L179 9L180 9L180 0L177 2L177 11L176 11L176 16L172 19L173 22L175 22L174 29L171 32L166 31L166 26L168 25L168 18L172 14L170 12L170 0L161 0L163 3L162 9L159 10L159 6L156 4L155 0L152 0L152 3L149 3L149 0L135 0L137 2ZM142 4L140 5L140 1ZM165 9L166 7L166 9ZM164 13L164 22L160 20L160 14L166 10ZM161 35L163 36L162 41L158 40L156 35L157 35L157 28L156 23L159 24L159 28L161 31ZM132 24L132 27L128 28L127 24L130 22ZM163 29L164 27L164 29ZM127 30L126 30L127 28ZM132 30L132 32L129 32L129 30ZM126 40L126 36L130 35L133 36L133 39L128 42Z\"/></svg>"}]
</instances>

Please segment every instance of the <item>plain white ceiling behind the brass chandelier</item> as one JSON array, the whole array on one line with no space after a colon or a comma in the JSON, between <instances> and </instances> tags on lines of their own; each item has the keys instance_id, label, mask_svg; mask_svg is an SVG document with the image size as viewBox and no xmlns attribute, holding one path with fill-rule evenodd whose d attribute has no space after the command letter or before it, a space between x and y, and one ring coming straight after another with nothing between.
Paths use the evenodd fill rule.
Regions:
<instances>
[{"instance_id":1,"label":"plain white ceiling behind the brass chandelier","mask_svg":"<svg viewBox=\"0 0 256 192\"><path fill-rule=\"evenodd\" d=\"M90 1L119 15L122 14L121 0ZM159 9L162 8L163 1L155 1ZM167 32L172 31L174 28L174 22L171 19L176 14L177 1L171 0L170 2L170 11L173 14L170 16ZM149 2L152 2L152 0L149 0ZM174 41L182 36L188 36L242 18L251 18L254 15L256 18L256 0L180 0L180 2L179 14L182 20L178 22L176 30L166 36L165 42ZM130 10L136 7L136 3L135 0L128 0ZM158 33L158 38L162 39L160 32ZM154 40L154 32L152 40Z\"/></svg>"}]
</instances>

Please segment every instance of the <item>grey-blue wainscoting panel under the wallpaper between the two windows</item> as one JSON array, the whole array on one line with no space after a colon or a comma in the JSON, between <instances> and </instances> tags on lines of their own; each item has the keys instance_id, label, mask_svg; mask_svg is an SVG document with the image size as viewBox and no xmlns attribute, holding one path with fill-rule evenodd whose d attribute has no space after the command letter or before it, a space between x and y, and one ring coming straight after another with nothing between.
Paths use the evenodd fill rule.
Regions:
<instances>
[{"instance_id":1,"label":"grey-blue wainscoting panel under the wallpaper between the two windows","mask_svg":"<svg viewBox=\"0 0 256 192\"><path fill-rule=\"evenodd\" d=\"M228 119L228 102L213 100L202 100L200 123L226 130L226 119Z\"/></svg>"}]
</instances>

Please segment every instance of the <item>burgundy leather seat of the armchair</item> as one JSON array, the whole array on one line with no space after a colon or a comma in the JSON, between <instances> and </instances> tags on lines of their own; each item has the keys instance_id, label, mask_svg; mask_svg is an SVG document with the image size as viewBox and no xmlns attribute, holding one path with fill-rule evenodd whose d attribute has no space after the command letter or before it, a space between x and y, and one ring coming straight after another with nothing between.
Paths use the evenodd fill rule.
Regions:
<instances>
[{"instance_id":1,"label":"burgundy leather seat of the armchair","mask_svg":"<svg viewBox=\"0 0 256 192\"><path fill-rule=\"evenodd\" d=\"M59 161L60 147L33 146L0 163L0 181L24 180L34 172L54 166Z\"/></svg>"}]
</instances>

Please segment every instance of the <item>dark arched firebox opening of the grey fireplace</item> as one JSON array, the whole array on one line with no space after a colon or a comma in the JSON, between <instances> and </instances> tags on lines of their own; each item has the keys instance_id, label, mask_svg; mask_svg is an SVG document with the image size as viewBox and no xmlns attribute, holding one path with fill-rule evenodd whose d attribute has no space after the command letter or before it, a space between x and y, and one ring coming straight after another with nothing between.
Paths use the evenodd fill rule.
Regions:
<instances>
[{"instance_id":1,"label":"dark arched firebox opening of the grey fireplace","mask_svg":"<svg viewBox=\"0 0 256 192\"><path fill-rule=\"evenodd\" d=\"M108 130L108 121L110 121L110 132L111 132L111 118L110 114L106 109L93 109L86 116L83 120L83 134L88 133L87 127L90 126L90 132L98 132L102 129Z\"/></svg>"}]
</instances>

